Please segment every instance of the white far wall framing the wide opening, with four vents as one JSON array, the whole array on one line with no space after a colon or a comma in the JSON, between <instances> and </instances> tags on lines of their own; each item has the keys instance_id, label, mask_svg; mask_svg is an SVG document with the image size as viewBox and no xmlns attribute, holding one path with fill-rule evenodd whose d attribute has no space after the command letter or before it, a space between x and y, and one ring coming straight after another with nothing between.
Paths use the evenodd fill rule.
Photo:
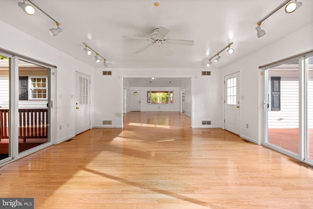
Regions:
<instances>
[{"instance_id":1,"label":"white far wall framing the wide opening, with four vents","mask_svg":"<svg viewBox=\"0 0 313 209\"><path fill-rule=\"evenodd\" d=\"M220 69L210 69L211 76L201 76L201 70L203 69L112 69L111 76L103 76L102 70L96 69L94 126L105 127L102 120L112 120L111 127L122 127L123 77L155 76L191 78L191 88L186 89L185 94L190 93L193 98L189 101L186 99L185 105L191 107L192 127L221 127ZM179 111L179 106L176 109ZM212 125L203 126L202 120L211 120Z\"/></svg>"}]
</instances>

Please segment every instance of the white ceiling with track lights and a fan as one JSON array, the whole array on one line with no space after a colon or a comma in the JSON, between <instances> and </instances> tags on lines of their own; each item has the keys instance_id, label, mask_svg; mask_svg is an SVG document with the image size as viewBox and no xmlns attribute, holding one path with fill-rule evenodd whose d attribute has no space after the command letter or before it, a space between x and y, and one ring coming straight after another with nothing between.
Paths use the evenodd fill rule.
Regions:
<instances>
[{"instance_id":1,"label":"white ceiling with track lights and a fan","mask_svg":"<svg viewBox=\"0 0 313 209\"><path fill-rule=\"evenodd\" d=\"M1 0L1 21L94 68L103 63L83 52L83 42L105 57L109 68L192 69L205 67L205 58L233 42L235 52L222 52L220 62L213 64L221 68L313 22L313 0L301 0L303 5L292 14L281 8L270 16L262 23L267 34L261 38L256 36L256 23L284 0L32 0L61 23L63 32L53 37L48 29L55 22L38 9L26 15L19 1ZM172 56L158 47L135 54L149 42L122 38L149 37L159 26L170 30L168 39L193 40L194 46L171 45Z\"/></svg>"}]
</instances>

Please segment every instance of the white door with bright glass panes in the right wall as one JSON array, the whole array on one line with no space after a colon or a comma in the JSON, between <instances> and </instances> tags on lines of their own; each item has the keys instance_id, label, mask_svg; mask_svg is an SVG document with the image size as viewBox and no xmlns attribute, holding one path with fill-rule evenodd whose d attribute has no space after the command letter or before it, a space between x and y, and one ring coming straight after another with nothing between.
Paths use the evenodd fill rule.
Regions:
<instances>
[{"instance_id":1,"label":"white door with bright glass panes in the right wall","mask_svg":"<svg viewBox=\"0 0 313 209\"><path fill-rule=\"evenodd\" d=\"M225 129L240 135L240 73L225 76Z\"/></svg>"}]
</instances>

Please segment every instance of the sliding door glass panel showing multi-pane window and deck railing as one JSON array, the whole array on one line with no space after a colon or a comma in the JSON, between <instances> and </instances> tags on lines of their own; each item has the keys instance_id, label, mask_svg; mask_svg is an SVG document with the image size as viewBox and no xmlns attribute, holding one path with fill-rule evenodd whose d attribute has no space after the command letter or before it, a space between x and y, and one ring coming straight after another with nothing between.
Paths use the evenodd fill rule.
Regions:
<instances>
[{"instance_id":1,"label":"sliding door glass panel showing multi-pane window and deck railing","mask_svg":"<svg viewBox=\"0 0 313 209\"><path fill-rule=\"evenodd\" d=\"M19 60L19 153L49 141L48 71Z\"/></svg>"}]
</instances>

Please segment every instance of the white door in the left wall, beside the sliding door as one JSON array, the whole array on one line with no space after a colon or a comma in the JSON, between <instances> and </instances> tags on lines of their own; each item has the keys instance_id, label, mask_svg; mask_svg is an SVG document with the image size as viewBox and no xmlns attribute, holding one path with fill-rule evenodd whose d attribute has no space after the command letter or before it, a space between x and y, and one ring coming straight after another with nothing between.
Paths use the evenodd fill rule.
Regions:
<instances>
[{"instance_id":1,"label":"white door in the left wall, beside the sliding door","mask_svg":"<svg viewBox=\"0 0 313 209\"><path fill-rule=\"evenodd\" d=\"M90 129L90 78L76 71L75 134Z\"/></svg>"}]
</instances>

